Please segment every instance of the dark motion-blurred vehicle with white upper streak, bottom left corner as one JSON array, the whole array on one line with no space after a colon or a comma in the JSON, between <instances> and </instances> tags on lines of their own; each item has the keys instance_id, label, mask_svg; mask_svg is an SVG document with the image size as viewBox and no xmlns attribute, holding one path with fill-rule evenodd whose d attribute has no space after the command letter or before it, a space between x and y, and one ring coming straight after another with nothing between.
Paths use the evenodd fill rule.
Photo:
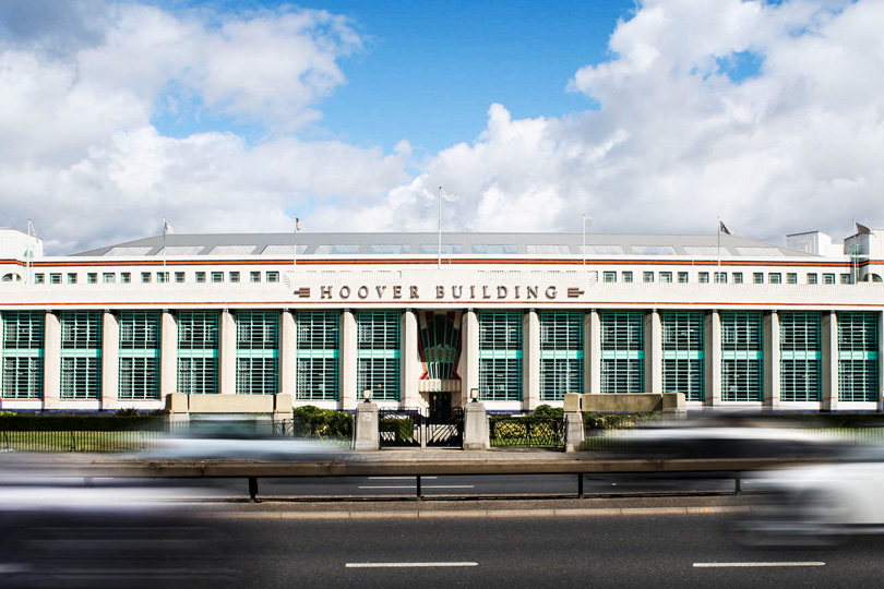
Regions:
<instances>
[{"instance_id":1,"label":"dark motion-blurred vehicle with white upper streak, bottom left corner","mask_svg":"<svg viewBox=\"0 0 884 589\"><path fill-rule=\"evenodd\" d=\"M238 587L223 522L174 500L132 482L1 473L0 586Z\"/></svg>"}]
</instances>

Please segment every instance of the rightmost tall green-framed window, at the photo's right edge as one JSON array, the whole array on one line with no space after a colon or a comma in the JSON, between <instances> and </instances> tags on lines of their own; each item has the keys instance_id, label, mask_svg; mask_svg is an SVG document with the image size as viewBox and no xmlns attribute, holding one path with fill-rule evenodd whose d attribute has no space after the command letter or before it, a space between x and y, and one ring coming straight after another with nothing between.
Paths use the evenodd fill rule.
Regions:
<instances>
[{"instance_id":1,"label":"rightmost tall green-framed window, at the photo's right edge","mask_svg":"<svg viewBox=\"0 0 884 589\"><path fill-rule=\"evenodd\" d=\"M879 365L877 313L838 313L838 400L876 400Z\"/></svg>"}]
</instances>

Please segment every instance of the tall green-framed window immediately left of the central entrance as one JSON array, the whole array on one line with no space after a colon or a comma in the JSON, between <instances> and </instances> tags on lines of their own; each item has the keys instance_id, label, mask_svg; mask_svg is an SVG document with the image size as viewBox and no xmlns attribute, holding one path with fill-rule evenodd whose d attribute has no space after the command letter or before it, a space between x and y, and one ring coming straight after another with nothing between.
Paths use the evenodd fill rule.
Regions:
<instances>
[{"instance_id":1,"label":"tall green-framed window immediately left of the central entrance","mask_svg":"<svg viewBox=\"0 0 884 589\"><path fill-rule=\"evenodd\" d=\"M397 311L356 314L357 398L370 388L373 399L398 400L401 321Z\"/></svg>"}]
</instances>

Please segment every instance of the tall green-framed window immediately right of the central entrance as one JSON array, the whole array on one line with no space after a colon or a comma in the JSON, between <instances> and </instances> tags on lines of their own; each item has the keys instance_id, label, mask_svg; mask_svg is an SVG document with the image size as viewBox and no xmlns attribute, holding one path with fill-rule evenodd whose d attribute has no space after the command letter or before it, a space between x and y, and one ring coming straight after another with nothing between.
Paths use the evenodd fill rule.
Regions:
<instances>
[{"instance_id":1,"label":"tall green-framed window immediately right of the central entrance","mask_svg":"<svg viewBox=\"0 0 884 589\"><path fill-rule=\"evenodd\" d=\"M480 312L479 398L522 400L522 312Z\"/></svg>"}]
</instances>

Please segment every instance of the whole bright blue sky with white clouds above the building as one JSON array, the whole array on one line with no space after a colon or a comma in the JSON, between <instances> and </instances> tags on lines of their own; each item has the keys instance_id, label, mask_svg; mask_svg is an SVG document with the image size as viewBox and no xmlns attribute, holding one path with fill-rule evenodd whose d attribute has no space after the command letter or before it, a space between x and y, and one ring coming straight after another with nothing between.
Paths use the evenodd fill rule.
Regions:
<instances>
[{"instance_id":1,"label":"whole bright blue sky with white clouds above the building","mask_svg":"<svg viewBox=\"0 0 884 589\"><path fill-rule=\"evenodd\" d=\"M884 0L0 0L0 225L884 226Z\"/></svg>"}]
</instances>

